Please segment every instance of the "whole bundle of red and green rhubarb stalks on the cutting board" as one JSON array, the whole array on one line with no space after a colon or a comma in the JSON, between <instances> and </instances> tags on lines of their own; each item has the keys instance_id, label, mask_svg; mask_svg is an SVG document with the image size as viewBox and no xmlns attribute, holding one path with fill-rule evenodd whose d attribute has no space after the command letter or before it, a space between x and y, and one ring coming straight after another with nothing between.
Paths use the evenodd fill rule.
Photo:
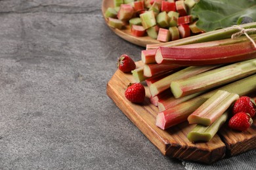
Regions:
<instances>
[{"instance_id":1,"label":"whole bundle of red and green rhubarb stalks on the cutting board","mask_svg":"<svg viewBox=\"0 0 256 170\"><path fill-rule=\"evenodd\" d=\"M198 124L190 141L213 137L237 99L256 91L256 34L230 38L253 27L256 22L142 50L143 65L131 72L135 82L146 82L150 101L159 109L156 126L167 129L188 121Z\"/></svg>"}]
</instances>

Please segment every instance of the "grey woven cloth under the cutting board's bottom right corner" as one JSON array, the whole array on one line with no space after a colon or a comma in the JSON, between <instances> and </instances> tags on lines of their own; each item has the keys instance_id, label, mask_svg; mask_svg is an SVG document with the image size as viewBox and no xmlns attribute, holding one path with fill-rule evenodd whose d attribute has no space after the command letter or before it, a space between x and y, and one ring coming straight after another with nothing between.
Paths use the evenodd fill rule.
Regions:
<instances>
[{"instance_id":1,"label":"grey woven cloth under the cutting board's bottom right corner","mask_svg":"<svg viewBox=\"0 0 256 170\"><path fill-rule=\"evenodd\" d=\"M223 160L216 161L210 165L203 163L195 163L191 161L182 161L185 169L187 170L255 170L256 169L256 150L250 150L237 156L224 158Z\"/></svg>"}]
</instances>

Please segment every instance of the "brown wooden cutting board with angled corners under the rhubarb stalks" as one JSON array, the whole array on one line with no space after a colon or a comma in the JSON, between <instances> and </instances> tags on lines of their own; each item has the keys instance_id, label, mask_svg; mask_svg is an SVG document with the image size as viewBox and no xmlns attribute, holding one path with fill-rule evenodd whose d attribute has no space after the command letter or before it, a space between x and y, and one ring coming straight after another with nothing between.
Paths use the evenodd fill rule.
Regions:
<instances>
[{"instance_id":1,"label":"brown wooden cutting board with angled corners under the rhubarb stalks","mask_svg":"<svg viewBox=\"0 0 256 170\"><path fill-rule=\"evenodd\" d=\"M136 64L139 67L142 62ZM146 85L146 99L141 105L131 103L125 98L125 88L130 82L135 82L131 74L117 70L106 86L106 93L163 155L181 160L213 163L256 148L256 121L245 132L232 131L224 125L218 135L208 143L188 141L186 136L194 127L188 122L167 130L160 129L155 125L158 108L150 103L150 92Z\"/></svg>"}]
</instances>

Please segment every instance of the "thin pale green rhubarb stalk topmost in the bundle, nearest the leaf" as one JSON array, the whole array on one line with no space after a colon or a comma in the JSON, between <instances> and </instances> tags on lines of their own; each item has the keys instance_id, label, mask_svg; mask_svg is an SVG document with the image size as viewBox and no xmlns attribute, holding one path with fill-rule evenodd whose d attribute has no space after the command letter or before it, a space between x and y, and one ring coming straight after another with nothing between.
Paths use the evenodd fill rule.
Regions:
<instances>
[{"instance_id":1,"label":"thin pale green rhubarb stalk topmost in the bundle, nearest the leaf","mask_svg":"<svg viewBox=\"0 0 256 170\"><path fill-rule=\"evenodd\" d=\"M251 22L249 24L241 24L242 28L255 28L256 22ZM165 42L160 44L147 44L146 49L158 48L160 46L180 46L184 44L194 44L198 42L207 42L207 41L215 41L220 39L230 38L232 34L237 33L237 29L217 29L215 31L209 31L206 33L202 33L200 35L194 35L191 37L186 37L184 39L180 39L177 41Z\"/></svg>"}]
</instances>

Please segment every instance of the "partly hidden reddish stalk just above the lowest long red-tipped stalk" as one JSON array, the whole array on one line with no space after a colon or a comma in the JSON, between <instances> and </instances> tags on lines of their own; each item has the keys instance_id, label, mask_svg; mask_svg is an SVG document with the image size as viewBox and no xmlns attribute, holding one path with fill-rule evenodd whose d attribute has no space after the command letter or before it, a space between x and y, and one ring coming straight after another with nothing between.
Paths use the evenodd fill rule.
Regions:
<instances>
[{"instance_id":1,"label":"partly hidden reddish stalk just above the lowest long red-tipped stalk","mask_svg":"<svg viewBox=\"0 0 256 170\"><path fill-rule=\"evenodd\" d=\"M169 89L168 89L169 90ZM171 90L170 90L171 91ZM198 95L201 95L203 92L198 92L190 95L186 95L184 97L180 97L179 99L175 99L173 95L162 98L158 100L158 110L161 112L163 110L169 109L171 107L175 107L184 101L188 101Z\"/></svg>"}]
</instances>

